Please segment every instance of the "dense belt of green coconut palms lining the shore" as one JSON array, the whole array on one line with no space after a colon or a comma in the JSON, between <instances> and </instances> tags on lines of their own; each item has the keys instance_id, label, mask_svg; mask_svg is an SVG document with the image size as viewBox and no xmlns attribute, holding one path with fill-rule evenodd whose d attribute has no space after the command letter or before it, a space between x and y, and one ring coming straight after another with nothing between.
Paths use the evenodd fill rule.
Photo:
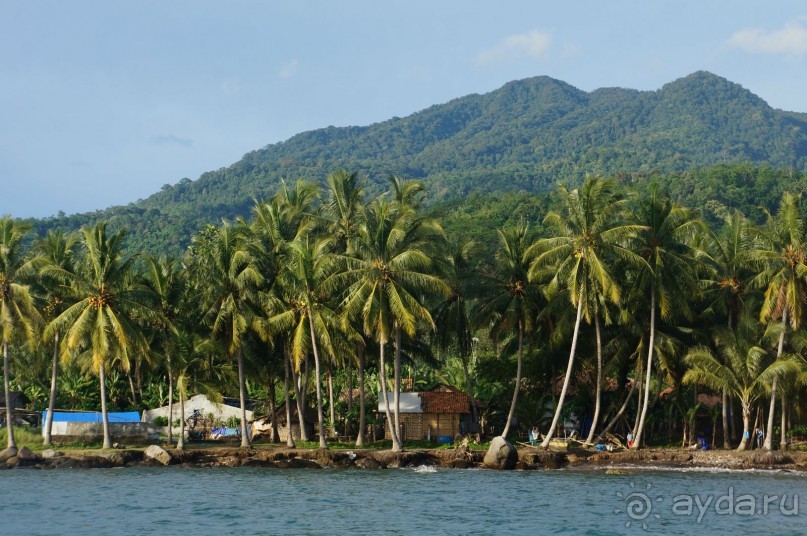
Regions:
<instances>
[{"instance_id":1,"label":"dense belt of green coconut palms lining the shore","mask_svg":"<svg viewBox=\"0 0 807 536\"><path fill-rule=\"evenodd\" d=\"M490 434L535 425L545 444L572 427L591 443L608 429L635 448L686 444L707 419L726 447L764 429L773 449L804 421L797 193L770 211L693 210L664 183L592 175L435 210L417 180L325 184L284 183L174 259L131 252L104 222L37 237L0 219L6 391L104 414L184 408L194 392L285 402L287 418L313 406L320 448L362 446L380 424L396 451L401 392L435 383L471 395Z\"/></svg>"}]
</instances>

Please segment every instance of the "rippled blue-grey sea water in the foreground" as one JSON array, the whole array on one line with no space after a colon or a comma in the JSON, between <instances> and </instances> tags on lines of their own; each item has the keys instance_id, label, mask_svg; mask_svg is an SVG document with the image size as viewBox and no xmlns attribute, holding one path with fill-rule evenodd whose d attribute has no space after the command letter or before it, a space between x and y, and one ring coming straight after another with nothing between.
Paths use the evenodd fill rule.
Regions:
<instances>
[{"instance_id":1,"label":"rippled blue-grey sea water in the foreground","mask_svg":"<svg viewBox=\"0 0 807 536\"><path fill-rule=\"evenodd\" d=\"M798 534L784 471L0 471L0 534Z\"/></svg>"}]
</instances>

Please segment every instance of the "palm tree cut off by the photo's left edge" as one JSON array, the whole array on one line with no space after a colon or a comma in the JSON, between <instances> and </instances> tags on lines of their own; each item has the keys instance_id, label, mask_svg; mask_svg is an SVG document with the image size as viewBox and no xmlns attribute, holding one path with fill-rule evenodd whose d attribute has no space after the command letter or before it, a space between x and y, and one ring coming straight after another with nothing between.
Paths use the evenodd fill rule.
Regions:
<instances>
[{"instance_id":1,"label":"palm tree cut off by the photo's left edge","mask_svg":"<svg viewBox=\"0 0 807 536\"><path fill-rule=\"evenodd\" d=\"M23 240L30 226L14 221L10 216L0 217L0 342L3 344L3 386L6 400L6 427L8 448L5 454L14 455L13 408L9 388L8 346L22 340L33 341L39 313L27 285L20 281L30 271L23 256Z\"/></svg>"}]
</instances>

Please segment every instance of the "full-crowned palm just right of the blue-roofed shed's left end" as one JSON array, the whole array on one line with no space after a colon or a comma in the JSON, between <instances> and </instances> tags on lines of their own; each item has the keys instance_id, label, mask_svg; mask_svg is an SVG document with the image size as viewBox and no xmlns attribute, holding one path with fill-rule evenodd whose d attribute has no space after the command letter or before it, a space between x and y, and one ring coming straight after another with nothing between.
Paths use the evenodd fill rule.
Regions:
<instances>
[{"instance_id":1,"label":"full-crowned palm just right of the blue-roofed shed's left end","mask_svg":"<svg viewBox=\"0 0 807 536\"><path fill-rule=\"evenodd\" d=\"M46 266L44 274L71 285L75 302L53 319L45 337L64 333L62 359L81 353L89 360L101 384L101 415L104 429L103 448L111 448L107 415L106 373L117 360L124 370L133 352L142 351L145 341L136 329L133 317L155 317L147 304L152 293L133 284L135 257L122 254L125 232L107 234L106 223L81 230L82 256L70 272Z\"/></svg>"}]
</instances>

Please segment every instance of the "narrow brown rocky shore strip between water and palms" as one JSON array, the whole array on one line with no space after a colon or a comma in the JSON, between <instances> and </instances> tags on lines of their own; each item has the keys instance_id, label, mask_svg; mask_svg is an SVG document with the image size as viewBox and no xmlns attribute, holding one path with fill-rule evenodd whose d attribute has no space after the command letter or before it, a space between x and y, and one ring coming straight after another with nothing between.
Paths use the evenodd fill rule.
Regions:
<instances>
[{"instance_id":1,"label":"narrow brown rocky shore strip between water and palms","mask_svg":"<svg viewBox=\"0 0 807 536\"><path fill-rule=\"evenodd\" d=\"M49 450L41 454L23 447L16 455L0 455L0 469L91 469L112 467L266 467L276 469L387 469L433 466L468 469L488 467L485 452L466 447L455 449L410 450L306 450L286 448L192 448L163 449L152 445L147 449L121 449L84 453L62 453ZM620 474L643 468L716 468L716 469L781 469L807 472L805 452L751 451L687 451L677 449L644 449L640 451L595 452L577 449L554 452L538 448L520 448L516 470L572 468L602 470ZM3 459L5 458L5 459Z\"/></svg>"}]
</instances>

